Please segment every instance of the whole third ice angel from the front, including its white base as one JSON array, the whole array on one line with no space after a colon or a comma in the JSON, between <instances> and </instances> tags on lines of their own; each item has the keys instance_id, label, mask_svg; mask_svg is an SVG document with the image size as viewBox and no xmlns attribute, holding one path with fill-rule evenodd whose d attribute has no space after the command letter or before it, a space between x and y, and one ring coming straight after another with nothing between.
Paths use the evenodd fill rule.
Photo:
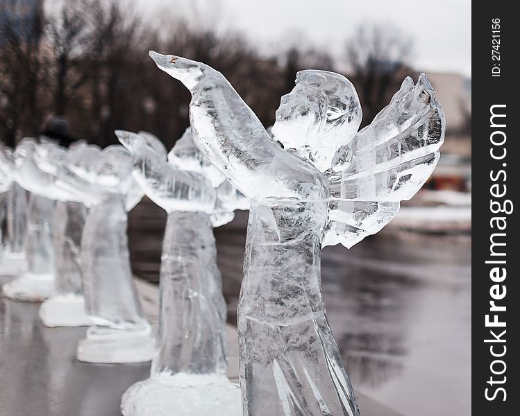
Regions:
<instances>
[{"instance_id":1,"label":"whole third ice angel from the front, including its white base","mask_svg":"<svg viewBox=\"0 0 520 416\"><path fill-rule=\"evenodd\" d=\"M78 360L149 361L151 327L137 300L126 235L127 213L144 195L131 174L131 155L120 145L102 151L79 145L64 172L64 182L72 181L75 189L83 189L88 208L81 238L81 272L85 307L94 325L78 343Z\"/></svg>"}]
</instances>

